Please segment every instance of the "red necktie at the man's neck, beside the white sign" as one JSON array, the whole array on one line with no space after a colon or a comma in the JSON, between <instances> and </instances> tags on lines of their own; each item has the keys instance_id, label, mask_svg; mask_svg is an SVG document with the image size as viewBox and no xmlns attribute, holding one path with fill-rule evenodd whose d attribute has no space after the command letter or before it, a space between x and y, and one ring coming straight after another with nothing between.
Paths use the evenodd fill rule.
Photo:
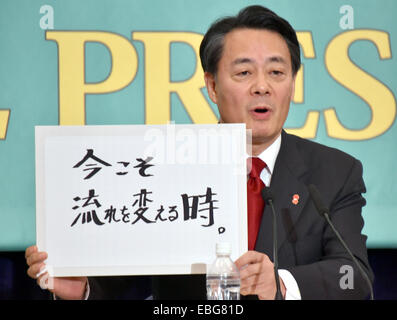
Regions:
<instances>
[{"instance_id":1,"label":"red necktie at the man's neck, beside the white sign","mask_svg":"<svg viewBox=\"0 0 397 320\"><path fill-rule=\"evenodd\" d=\"M265 187L265 184L261 180L260 174L266 167L266 163L259 158L249 158L248 161L252 161L252 169L247 182L248 250L254 250L265 207L261 195L261 190Z\"/></svg>"}]
</instances>

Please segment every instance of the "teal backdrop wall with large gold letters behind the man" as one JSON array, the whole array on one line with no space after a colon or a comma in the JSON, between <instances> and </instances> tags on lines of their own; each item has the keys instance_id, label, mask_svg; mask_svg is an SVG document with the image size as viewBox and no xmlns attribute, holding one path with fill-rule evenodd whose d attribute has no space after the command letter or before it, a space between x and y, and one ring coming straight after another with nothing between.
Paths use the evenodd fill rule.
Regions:
<instances>
[{"instance_id":1,"label":"teal backdrop wall with large gold letters behind the man","mask_svg":"<svg viewBox=\"0 0 397 320\"><path fill-rule=\"evenodd\" d=\"M35 243L35 126L217 123L200 41L250 4L298 33L285 129L362 161L368 246L397 247L396 1L3 0L0 251Z\"/></svg>"}]
</instances>

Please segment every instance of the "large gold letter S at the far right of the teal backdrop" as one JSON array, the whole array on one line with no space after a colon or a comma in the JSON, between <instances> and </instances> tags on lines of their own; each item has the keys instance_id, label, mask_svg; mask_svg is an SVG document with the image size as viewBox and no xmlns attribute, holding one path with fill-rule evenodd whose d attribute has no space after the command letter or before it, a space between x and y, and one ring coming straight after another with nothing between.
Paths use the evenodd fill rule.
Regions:
<instances>
[{"instance_id":1,"label":"large gold letter S at the far right of the teal backdrop","mask_svg":"<svg viewBox=\"0 0 397 320\"><path fill-rule=\"evenodd\" d=\"M352 30L336 36L328 44L325 64L329 74L341 85L363 99L371 108L370 123L361 130L349 130L338 120L333 108L324 111L327 133L330 137L344 140L365 140L384 133L394 122L396 101L391 91L379 80L357 67L349 59L349 47L357 40L373 42L381 59L389 59L388 33L378 30Z\"/></svg>"}]
</instances>

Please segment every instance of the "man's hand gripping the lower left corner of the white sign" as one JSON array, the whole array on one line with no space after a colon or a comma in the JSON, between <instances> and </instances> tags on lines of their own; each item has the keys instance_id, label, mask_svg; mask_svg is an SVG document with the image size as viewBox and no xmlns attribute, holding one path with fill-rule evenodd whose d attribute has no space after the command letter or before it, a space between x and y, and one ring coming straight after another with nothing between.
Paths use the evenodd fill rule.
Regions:
<instances>
[{"instance_id":1,"label":"man's hand gripping the lower left corner of the white sign","mask_svg":"<svg viewBox=\"0 0 397 320\"><path fill-rule=\"evenodd\" d=\"M39 252L37 246L31 246L25 251L26 263L28 264L29 277L36 279L37 284L43 288L48 289L57 297L65 300L81 300L84 299L87 277L58 277L49 278L48 272L37 275L45 268L44 261L48 255L46 252Z\"/></svg>"}]
</instances>

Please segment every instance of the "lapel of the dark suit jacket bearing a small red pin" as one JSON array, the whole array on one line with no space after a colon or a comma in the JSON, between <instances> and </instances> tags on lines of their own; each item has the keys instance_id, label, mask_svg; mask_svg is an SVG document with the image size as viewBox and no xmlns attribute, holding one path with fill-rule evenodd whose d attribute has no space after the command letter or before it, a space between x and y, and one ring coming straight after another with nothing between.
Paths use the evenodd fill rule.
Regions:
<instances>
[{"instance_id":1,"label":"lapel of the dark suit jacket bearing a small red pin","mask_svg":"<svg viewBox=\"0 0 397 320\"><path fill-rule=\"evenodd\" d=\"M274 195L274 209L277 217L277 241L281 248L286 239L293 241L294 226L304 208L309 193L302 178L307 172L306 165L299 154L296 143L288 134L282 132L279 154L274 166L270 189ZM299 200L294 201L294 195ZM266 253L273 259L273 213L265 206L255 249Z\"/></svg>"}]
</instances>

